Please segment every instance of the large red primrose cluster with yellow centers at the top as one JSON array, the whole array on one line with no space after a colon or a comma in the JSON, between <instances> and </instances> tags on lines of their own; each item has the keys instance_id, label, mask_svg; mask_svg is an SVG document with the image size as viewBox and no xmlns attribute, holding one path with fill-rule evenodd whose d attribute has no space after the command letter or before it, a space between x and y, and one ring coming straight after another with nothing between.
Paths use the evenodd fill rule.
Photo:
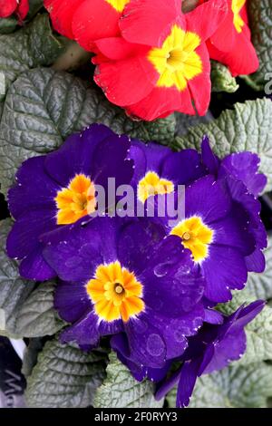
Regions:
<instances>
[{"instance_id":1,"label":"large red primrose cluster with yellow centers at the top","mask_svg":"<svg viewBox=\"0 0 272 426\"><path fill-rule=\"evenodd\" d=\"M248 26L239 15L245 1L199 0L188 14L181 12L181 0L44 0L44 5L59 33L95 53L94 80L107 98L132 117L152 121L173 111L206 113L210 56L233 73L239 73L239 64L247 66L248 59L237 59L241 47L234 48L239 29L246 43ZM253 49L250 34L248 46ZM252 67L256 62L250 73Z\"/></svg>"}]
</instances>

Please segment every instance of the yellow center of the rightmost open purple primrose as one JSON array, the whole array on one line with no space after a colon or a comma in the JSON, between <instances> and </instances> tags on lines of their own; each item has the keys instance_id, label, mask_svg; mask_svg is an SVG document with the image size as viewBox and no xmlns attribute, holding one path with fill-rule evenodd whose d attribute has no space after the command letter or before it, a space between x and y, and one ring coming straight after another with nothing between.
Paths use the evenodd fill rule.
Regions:
<instances>
[{"instance_id":1,"label":"yellow center of the rightmost open purple primrose","mask_svg":"<svg viewBox=\"0 0 272 426\"><path fill-rule=\"evenodd\" d=\"M183 246L189 248L195 262L202 262L208 257L213 230L204 225L201 218L183 220L170 234L181 238Z\"/></svg>"}]
</instances>

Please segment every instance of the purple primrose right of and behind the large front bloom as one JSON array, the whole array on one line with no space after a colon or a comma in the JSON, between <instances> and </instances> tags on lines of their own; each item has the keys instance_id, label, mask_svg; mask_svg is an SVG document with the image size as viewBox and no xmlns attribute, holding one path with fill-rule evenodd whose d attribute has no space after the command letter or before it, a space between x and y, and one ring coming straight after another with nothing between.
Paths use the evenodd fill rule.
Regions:
<instances>
[{"instance_id":1,"label":"purple primrose right of and behind the large front bloom","mask_svg":"<svg viewBox=\"0 0 272 426\"><path fill-rule=\"evenodd\" d=\"M238 158L233 154L229 159ZM254 154L246 156L255 159ZM228 164L228 158L225 159ZM208 305L227 302L231 290L242 289L248 272L263 272L267 247L267 233L260 218L260 203L248 191L241 179L249 181L248 174L241 179L225 160L219 159L209 148L209 141L203 140L202 163L210 174L193 181L185 188L185 216L173 224L173 218L165 215L157 220L165 228L166 235L180 237L183 247L190 250L195 267L206 281L205 297ZM256 159L255 159L256 160ZM257 174L253 161L257 186L263 175ZM230 171L229 171L230 169ZM253 179L251 185L253 185ZM253 188L253 187L251 187ZM180 196L174 192L178 199ZM164 197L164 196L163 196ZM146 203L147 211L155 205L159 212L162 195L153 197L153 204ZM160 215L158 215L160 216Z\"/></svg>"}]
</instances>

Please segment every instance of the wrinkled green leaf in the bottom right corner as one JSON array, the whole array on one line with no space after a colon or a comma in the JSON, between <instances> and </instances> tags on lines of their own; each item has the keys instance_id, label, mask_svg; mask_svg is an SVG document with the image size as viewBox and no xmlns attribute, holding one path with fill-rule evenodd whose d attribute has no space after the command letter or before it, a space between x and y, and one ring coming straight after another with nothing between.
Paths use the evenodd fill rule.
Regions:
<instances>
[{"instance_id":1,"label":"wrinkled green leaf in the bottom right corner","mask_svg":"<svg viewBox=\"0 0 272 426\"><path fill-rule=\"evenodd\" d=\"M189 408L265 408L270 396L271 365L232 365L221 372L202 376L196 384Z\"/></svg>"}]
</instances>

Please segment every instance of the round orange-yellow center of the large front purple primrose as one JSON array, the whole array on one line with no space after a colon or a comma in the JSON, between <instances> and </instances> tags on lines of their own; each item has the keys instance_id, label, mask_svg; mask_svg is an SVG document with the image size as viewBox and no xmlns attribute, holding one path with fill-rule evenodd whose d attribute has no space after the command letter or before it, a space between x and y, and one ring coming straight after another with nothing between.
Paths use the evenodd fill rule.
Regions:
<instances>
[{"instance_id":1,"label":"round orange-yellow center of the large front purple primrose","mask_svg":"<svg viewBox=\"0 0 272 426\"><path fill-rule=\"evenodd\" d=\"M127 322L144 309L141 283L118 261L98 266L86 290L95 313L108 323L118 319Z\"/></svg>"}]
</instances>

